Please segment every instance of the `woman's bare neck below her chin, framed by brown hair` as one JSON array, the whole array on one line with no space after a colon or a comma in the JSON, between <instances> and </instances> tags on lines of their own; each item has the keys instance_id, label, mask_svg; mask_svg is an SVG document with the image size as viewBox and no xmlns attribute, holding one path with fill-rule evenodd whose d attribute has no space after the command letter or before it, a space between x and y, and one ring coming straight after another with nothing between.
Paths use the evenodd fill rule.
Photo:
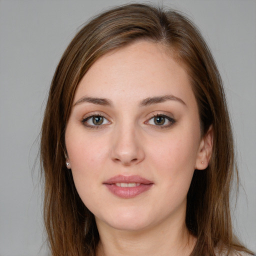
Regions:
<instances>
[{"instance_id":1,"label":"woman's bare neck below her chin, framed by brown hair","mask_svg":"<svg viewBox=\"0 0 256 256\"><path fill-rule=\"evenodd\" d=\"M136 231L109 228L97 220L100 241L96 255L188 256L193 250L196 238L188 232L183 219L176 219L173 224L163 221L153 227Z\"/></svg>"}]
</instances>

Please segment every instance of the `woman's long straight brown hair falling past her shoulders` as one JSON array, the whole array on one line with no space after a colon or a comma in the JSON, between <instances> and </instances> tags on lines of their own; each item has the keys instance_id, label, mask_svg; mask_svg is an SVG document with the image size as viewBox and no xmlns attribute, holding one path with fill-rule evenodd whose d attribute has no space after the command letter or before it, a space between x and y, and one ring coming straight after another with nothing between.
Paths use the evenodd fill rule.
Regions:
<instances>
[{"instance_id":1,"label":"woman's long straight brown hair falling past her shoulders","mask_svg":"<svg viewBox=\"0 0 256 256\"><path fill-rule=\"evenodd\" d=\"M237 175L233 138L222 82L214 59L196 27L183 14L146 4L106 11L85 24L56 68L41 130L44 221L52 255L94 255L99 241L93 214L76 192L65 166L65 126L77 84L106 52L135 40L166 46L186 68L199 108L202 136L214 138L208 167L195 170L187 194L186 226L197 237L191 255L216 249L247 251L232 235L229 192ZM167 240L166 240L167 242Z\"/></svg>"}]
</instances>

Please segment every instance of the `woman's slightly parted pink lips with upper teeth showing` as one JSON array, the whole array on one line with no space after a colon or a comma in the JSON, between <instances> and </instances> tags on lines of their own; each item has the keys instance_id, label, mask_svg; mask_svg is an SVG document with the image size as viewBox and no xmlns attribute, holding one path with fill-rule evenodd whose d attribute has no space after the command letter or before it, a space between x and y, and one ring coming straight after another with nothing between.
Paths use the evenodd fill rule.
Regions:
<instances>
[{"instance_id":1,"label":"woman's slightly parted pink lips with upper teeth showing","mask_svg":"<svg viewBox=\"0 0 256 256\"><path fill-rule=\"evenodd\" d=\"M153 182L137 175L117 175L104 181L103 184L118 197L132 198L150 189Z\"/></svg>"}]
</instances>

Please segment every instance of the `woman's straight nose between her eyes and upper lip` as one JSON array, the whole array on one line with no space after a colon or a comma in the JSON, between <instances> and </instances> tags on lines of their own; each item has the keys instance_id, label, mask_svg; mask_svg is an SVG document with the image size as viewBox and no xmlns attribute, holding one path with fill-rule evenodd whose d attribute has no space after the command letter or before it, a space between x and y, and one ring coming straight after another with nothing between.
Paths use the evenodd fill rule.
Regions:
<instances>
[{"instance_id":1,"label":"woman's straight nose between her eyes and upper lip","mask_svg":"<svg viewBox=\"0 0 256 256\"><path fill-rule=\"evenodd\" d=\"M137 164L145 157L135 127L116 127L112 139L111 159L126 166Z\"/></svg>"}]
</instances>

